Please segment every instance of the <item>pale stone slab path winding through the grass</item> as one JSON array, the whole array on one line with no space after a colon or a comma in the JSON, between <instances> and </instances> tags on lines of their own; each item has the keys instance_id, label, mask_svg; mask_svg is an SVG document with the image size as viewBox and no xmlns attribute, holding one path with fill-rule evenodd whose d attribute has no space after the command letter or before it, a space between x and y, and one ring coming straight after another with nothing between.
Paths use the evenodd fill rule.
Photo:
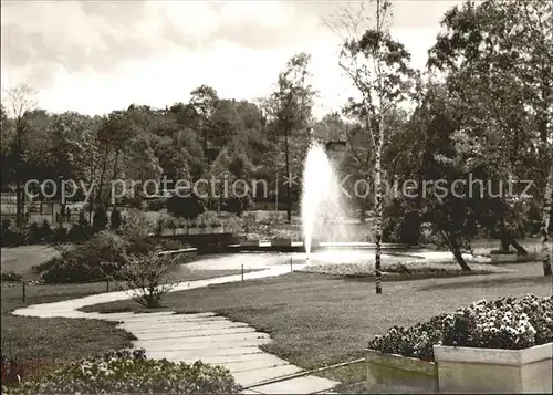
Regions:
<instances>
[{"instance_id":1,"label":"pale stone slab path winding through the grass","mask_svg":"<svg viewBox=\"0 0 553 395\"><path fill-rule=\"evenodd\" d=\"M283 266L244 274L244 280L281 276L290 272ZM174 291L240 281L241 276L227 276L179 284ZM119 328L137 337L135 347L144 347L150 358L174 362L206 363L227 367L243 394L315 394L330 393L337 382L314 375L299 375L283 381L302 370L275 355L263 352L260 345L271 342L269 334L258 332L246 323L233 322L215 313L85 313L86 305L128 299L125 292L102 293L63 302L35 304L19 309L15 315L39 318L86 318L119 322ZM273 381L271 383L268 383Z\"/></svg>"}]
</instances>

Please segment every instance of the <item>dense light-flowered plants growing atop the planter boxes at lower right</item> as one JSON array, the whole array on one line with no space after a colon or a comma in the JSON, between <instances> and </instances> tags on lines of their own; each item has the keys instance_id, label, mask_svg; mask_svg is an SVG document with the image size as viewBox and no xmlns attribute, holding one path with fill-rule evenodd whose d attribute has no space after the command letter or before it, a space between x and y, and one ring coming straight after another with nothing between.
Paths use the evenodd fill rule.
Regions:
<instances>
[{"instance_id":1,"label":"dense light-flowered plants growing atop the planter boxes at lower right","mask_svg":"<svg viewBox=\"0 0 553 395\"><path fill-rule=\"evenodd\" d=\"M368 347L434 361L432 346L521 350L553 342L553 297L480 301L410 328L394 326Z\"/></svg>"}]
</instances>

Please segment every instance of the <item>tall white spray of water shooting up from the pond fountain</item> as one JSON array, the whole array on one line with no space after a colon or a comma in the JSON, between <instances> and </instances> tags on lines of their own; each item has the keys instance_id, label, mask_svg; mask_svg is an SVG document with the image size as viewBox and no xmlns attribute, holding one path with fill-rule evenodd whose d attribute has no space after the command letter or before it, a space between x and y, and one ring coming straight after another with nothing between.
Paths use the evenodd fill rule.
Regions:
<instances>
[{"instance_id":1,"label":"tall white spray of water shooting up from the pond fountain","mask_svg":"<svg viewBox=\"0 0 553 395\"><path fill-rule=\"evenodd\" d=\"M348 240L344 226L345 201L340 180L325 149L313 143L307 152L303 169L301 202L302 229L305 252L309 256L314 239L321 241Z\"/></svg>"}]
</instances>

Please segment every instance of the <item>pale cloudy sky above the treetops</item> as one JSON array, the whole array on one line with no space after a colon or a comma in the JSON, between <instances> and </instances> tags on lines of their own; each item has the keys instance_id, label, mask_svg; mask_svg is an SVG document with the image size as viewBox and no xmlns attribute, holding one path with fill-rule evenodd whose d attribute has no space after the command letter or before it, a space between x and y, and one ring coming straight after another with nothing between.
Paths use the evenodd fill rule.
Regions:
<instances>
[{"instance_id":1,"label":"pale cloudy sky above the treetops","mask_svg":"<svg viewBox=\"0 0 553 395\"><path fill-rule=\"evenodd\" d=\"M442 14L461 0L396 0L392 34L424 67ZM41 108L95 115L129 104L165 108L195 87L255 100L274 89L295 53L312 55L314 115L352 96L340 37L324 23L338 1L1 2L1 85L28 83ZM353 4L351 7L357 7ZM3 91L2 90L2 91ZM3 97L3 94L2 94Z\"/></svg>"}]
</instances>

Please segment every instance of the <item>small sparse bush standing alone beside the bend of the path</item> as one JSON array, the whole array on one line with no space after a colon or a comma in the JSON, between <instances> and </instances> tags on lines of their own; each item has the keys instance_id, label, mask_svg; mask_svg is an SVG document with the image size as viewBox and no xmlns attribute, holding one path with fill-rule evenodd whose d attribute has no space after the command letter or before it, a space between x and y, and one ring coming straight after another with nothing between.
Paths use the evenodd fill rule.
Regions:
<instances>
[{"instance_id":1,"label":"small sparse bush standing alone beside the bend of the path","mask_svg":"<svg viewBox=\"0 0 553 395\"><path fill-rule=\"evenodd\" d=\"M165 294L178 285L169 274L179 264L179 257L158 252L125 257L126 263L118 273L126 281L131 298L148 309L159 308Z\"/></svg>"}]
</instances>

